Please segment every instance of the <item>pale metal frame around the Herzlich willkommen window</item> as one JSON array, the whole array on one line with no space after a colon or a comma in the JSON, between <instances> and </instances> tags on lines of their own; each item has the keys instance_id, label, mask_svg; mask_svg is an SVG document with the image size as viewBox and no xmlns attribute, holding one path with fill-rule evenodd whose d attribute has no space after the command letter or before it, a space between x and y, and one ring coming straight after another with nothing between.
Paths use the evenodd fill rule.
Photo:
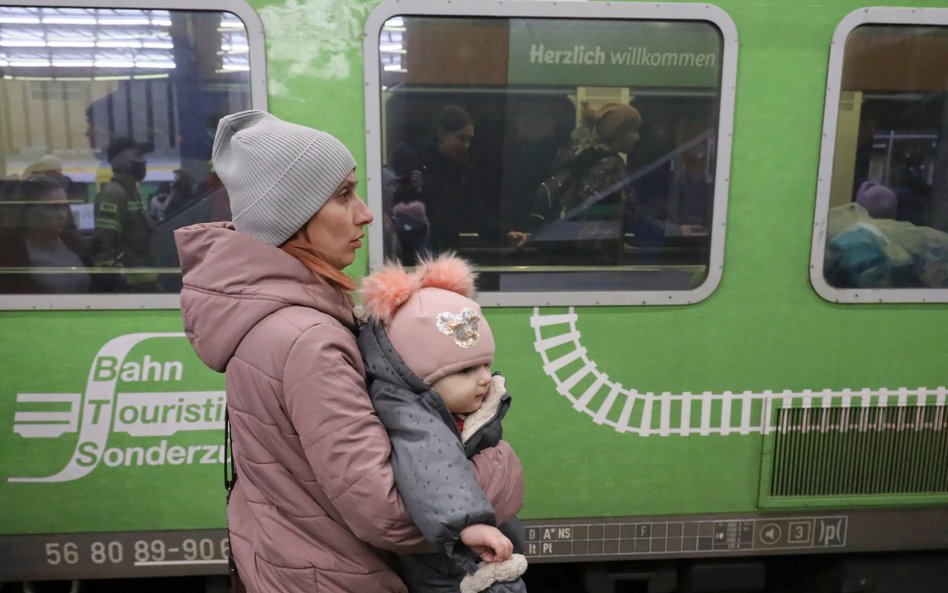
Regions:
<instances>
[{"instance_id":1,"label":"pale metal frame around the Herzlich willkommen window","mask_svg":"<svg viewBox=\"0 0 948 593\"><path fill-rule=\"evenodd\" d=\"M702 21L715 26L722 36L721 86L718 112L713 211L708 273L692 290L487 292L478 294L482 306L582 306L582 305L686 305L708 298L723 274L724 235L729 193L731 144L737 80L737 28L731 17L711 4L547 2L543 0L477 0L431 3L425 0L386 0L377 6L365 25L365 125L366 181L368 204L373 213L382 210L382 117L379 35L382 25L395 16L570 18L615 20ZM383 265L384 241L381 223L369 227L369 269Z\"/></svg>"}]
</instances>

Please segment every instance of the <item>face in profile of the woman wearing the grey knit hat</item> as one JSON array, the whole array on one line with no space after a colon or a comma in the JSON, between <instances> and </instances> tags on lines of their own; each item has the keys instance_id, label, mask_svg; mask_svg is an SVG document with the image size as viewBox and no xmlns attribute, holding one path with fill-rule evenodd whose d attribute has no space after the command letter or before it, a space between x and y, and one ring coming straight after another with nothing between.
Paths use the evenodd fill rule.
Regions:
<instances>
[{"instance_id":1,"label":"face in profile of the woman wearing the grey knit hat","mask_svg":"<svg viewBox=\"0 0 948 593\"><path fill-rule=\"evenodd\" d=\"M362 247L363 227L372 222L369 207L356 193L355 171L349 173L329 200L306 223L306 238L330 265L341 270L355 260Z\"/></svg>"}]
</instances>

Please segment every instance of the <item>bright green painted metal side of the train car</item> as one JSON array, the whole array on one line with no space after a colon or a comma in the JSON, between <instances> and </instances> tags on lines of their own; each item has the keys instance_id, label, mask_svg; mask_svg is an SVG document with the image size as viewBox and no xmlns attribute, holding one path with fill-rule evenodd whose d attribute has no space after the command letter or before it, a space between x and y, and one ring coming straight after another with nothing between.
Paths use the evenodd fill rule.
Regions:
<instances>
[{"instance_id":1,"label":"bright green painted metal side of the train car","mask_svg":"<svg viewBox=\"0 0 948 593\"><path fill-rule=\"evenodd\" d=\"M375 3L251 4L267 35L271 110L332 132L364 163L362 27ZM740 38L723 280L709 299L692 306L575 310L578 339L597 372L623 389L654 394L651 411L632 410L629 425L615 408L608 422L597 423L590 406L602 401L575 401L592 378L566 390L573 399L557 391L569 374L555 380L544 370L532 323L567 309L487 312L498 343L495 368L508 377L514 396L505 435L526 471L523 518L757 511L763 436L739 428L701 434L705 392L755 394L748 396L749 409L762 417L767 391L895 392L948 384L948 306L836 305L820 299L808 279L829 43L840 19L862 4L717 5ZM366 174L360 166L363 183ZM350 272L361 276L366 266L362 253ZM204 455L218 447L219 429L136 436L113 423L104 445L85 449L81 431L27 438L16 429L27 423L18 413L59 409L31 408L17 402L18 394L75 394L75 401L85 401L90 375L105 372L96 359L106 344L136 333L181 332L177 311L3 312L0 332L0 534L224 525L219 460L188 457L189 448ZM183 337L150 338L123 356L114 362L125 369L114 390L116 410L120 394L164 394L161 401L174 405L178 392L223 390L223 377L203 367ZM144 364L145 356L180 362L180 378L172 370L167 378L134 380L136 371L121 365ZM632 430L660 425L660 401L671 396L677 398L671 412L680 416L682 406L691 406L696 432L676 434L674 425L666 436ZM709 408L709 427L728 424L722 405ZM735 400L732 416L741 405ZM127 419L134 413L126 412ZM184 448L184 457L169 447ZM73 458L93 467L74 479L11 481L52 476Z\"/></svg>"}]
</instances>

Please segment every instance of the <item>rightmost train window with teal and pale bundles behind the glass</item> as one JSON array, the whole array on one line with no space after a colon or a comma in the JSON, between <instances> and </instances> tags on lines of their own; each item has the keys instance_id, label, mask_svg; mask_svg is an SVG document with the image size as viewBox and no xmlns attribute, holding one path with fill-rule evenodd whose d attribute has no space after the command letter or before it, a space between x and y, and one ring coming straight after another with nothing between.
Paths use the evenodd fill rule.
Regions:
<instances>
[{"instance_id":1,"label":"rightmost train window with teal and pale bundles behind the glass","mask_svg":"<svg viewBox=\"0 0 948 593\"><path fill-rule=\"evenodd\" d=\"M948 10L868 8L830 53L811 282L835 302L948 301Z\"/></svg>"}]
</instances>

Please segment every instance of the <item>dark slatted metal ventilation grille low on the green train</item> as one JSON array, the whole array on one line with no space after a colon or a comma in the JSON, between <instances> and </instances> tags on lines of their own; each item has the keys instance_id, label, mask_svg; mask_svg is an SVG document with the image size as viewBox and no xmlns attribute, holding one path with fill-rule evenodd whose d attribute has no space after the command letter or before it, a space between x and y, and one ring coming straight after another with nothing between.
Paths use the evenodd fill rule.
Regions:
<instances>
[{"instance_id":1,"label":"dark slatted metal ventilation grille low on the green train","mask_svg":"<svg viewBox=\"0 0 948 593\"><path fill-rule=\"evenodd\" d=\"M948 493L944 405L774 411L771 496Z\"/></svg>"}]
</instances>

